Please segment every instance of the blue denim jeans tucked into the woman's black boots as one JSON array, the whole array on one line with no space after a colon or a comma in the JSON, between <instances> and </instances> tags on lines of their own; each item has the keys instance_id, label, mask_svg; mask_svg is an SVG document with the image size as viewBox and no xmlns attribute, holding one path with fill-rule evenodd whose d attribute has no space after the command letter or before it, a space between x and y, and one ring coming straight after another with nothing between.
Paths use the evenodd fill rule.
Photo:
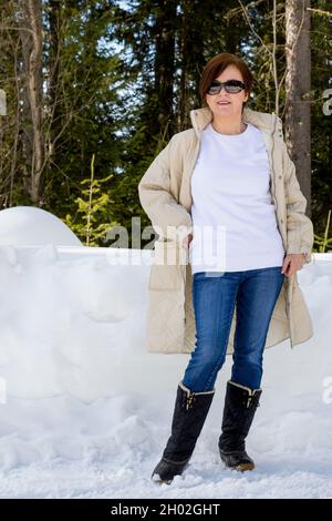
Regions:
<instances>
[{"instance_id":1,"label":"blue denim jeans tucked into the woman's black boots","mask_svg":"<svg viewBox=\"0 0 332 521\"><path fill-rule=\"evenodd\" d=\"M281 266L193 275L196 344L183 378L188 389L212 390L226 359L235 306L231 380L259 389L266 338L284 277Z\"/></svg>"}]
</instances>

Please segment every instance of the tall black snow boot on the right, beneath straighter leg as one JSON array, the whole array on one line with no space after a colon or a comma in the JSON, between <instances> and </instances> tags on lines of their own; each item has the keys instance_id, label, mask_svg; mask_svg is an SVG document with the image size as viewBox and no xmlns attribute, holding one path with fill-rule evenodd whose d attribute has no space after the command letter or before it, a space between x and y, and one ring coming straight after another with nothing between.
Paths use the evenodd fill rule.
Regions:
<instances>
[{"instance_id":1,"label":"tall black snow boot on the right, beneath straighter leg","mask_svg":"<svg viewBox=\"0 0 332 521\"><path fill-rule=\"evenodd\" d=\"M243 472L255 469L252 459L246 452L245 440L262 389L250 389L235 381L227 382L225 408L219 438L219 453L226 467Z\"/></svg>"}]
</instances>

